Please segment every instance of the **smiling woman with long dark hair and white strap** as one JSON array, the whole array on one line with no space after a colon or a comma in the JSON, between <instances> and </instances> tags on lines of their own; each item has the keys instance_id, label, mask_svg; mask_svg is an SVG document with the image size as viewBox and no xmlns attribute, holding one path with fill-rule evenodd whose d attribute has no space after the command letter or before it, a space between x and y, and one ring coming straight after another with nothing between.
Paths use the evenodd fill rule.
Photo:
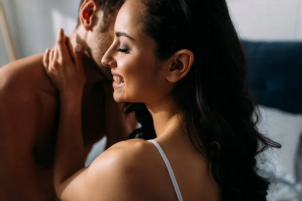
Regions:
<instances>
[{"instance_id":1,"label":"smiling woman with long dark hair and white strap","mask_svg":"<svg viewBox=\"0 0 302 201\"><path fill-rule=\"evenodd\" d=\"M269 182L256 173L255 157L280 145L257 131L245 56L224 0L125 2L102 63L111 68L116 102L143 103L125 109L137 110L142 132L156 139L115 144L88 168L80 107L85 77L76 49L75 66L62 42L54 56L45 54L61 93L59 199L266 200ZM149 114L154 129L143 121Z\"/></svg>"}]
</instances>

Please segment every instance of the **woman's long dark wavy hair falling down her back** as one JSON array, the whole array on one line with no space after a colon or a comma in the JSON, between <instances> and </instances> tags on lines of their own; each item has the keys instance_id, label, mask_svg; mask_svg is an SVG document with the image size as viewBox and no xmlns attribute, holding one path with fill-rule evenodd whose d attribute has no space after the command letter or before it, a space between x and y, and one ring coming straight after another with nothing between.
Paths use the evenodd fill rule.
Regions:
<instances>
[{"instance_id":1,"label":"woman's long dark wavy hair falling down her back","mask_svg":"<svg viewBox=\"0 0 302 201\"><path fill-rule=\"evenodd\" d=\"M257 130L257 105L247 87L247 63L225 0L139 0L141 30L166 60L193 52L189 73L174 90L185 135L212 162L222 200L266 200L269 181L257 173L256 156L280 144ZM144 104L126 104L142 125L131 138L156 137ZM219 146L217 146L219 144Z\"/></svg>"}]
</instances>

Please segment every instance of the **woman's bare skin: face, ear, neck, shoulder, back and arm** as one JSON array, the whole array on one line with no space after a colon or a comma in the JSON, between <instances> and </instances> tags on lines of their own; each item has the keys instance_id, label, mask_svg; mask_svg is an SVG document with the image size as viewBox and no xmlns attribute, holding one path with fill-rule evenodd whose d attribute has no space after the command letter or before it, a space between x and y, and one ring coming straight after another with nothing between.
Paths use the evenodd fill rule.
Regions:
<instances>
[{"instance_id":1,"label":"woman's bare skin: face, ear, neck, shoulder, back and arm","mask_svg":"<svg viewBox=\"0 0 302 201\"><path fill-rule=\"evenodd\" d=\"M190 70L194 55L181 50L166 61L158 61L155 41L137 29L135 19L141 11L137 5L136 0L128 0L122 6L114 42L103 57L103 64L119 76L113 82L114 99L146 104L154 120L156 140L170 161L184 200L218 201L220 188L211 174L211 164L184 136L182 115L175 109L172 95L175 83ZM54 175L59 199L177 200L165 163L152 142L136 139L117 143L90 167L84 167L82 52L75 53L73 65L66 47L56 48L58 56L49 52L44 55L44 67L64 94L60 99ZM71 136L74 140L69 143ZM75 147L77 151L71 152ZM64 162L66 158L70 159L68 163Z\"/></svg>"}]
</instances>

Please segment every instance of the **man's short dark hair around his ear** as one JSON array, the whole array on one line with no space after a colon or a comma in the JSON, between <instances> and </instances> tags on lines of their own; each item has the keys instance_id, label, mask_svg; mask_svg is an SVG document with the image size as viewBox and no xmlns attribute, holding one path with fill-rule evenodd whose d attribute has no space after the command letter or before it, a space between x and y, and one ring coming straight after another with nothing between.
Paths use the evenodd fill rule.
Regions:
<instances>
[{"instance_id":1,"label":"man's short dark hair around his ear","mask_svg":"<svg viewBox=\"0 0 302 201\"><path fill-rule=\"evenodd\" d=\"M81 0L81 4L79 7L79 12L81 9L82 4L84 3L85 0ZM99 6L99 8L101 9L101 11L103 11L104 13L104 17L103 17L103 27L101 28L102 31L105 31L110 23L111 20L111 16L110 14L112 14L112 12L119 10L122 5L124 4L125 0L94 0L97 5ZM81 21L80 18L78 18L78 26L79 27L81 25Z\"/></svg>"}]
</instances>

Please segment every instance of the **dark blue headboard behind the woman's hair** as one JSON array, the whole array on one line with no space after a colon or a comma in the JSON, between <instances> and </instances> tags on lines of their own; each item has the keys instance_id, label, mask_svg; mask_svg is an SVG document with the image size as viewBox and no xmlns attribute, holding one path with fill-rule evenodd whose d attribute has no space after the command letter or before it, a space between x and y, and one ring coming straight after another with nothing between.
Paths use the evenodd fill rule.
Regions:
<instances>
[{"instance_id":1,"label":"dark blue headboard behind the woman's hair","mask_svg":"<svg viewBox=\"0 0 302 201\"><path fill-rule=\"evenodd\" d=\"M302 113L302 42L243 41L249 89L260 105Z\"/></svg>"}]
</instances>

